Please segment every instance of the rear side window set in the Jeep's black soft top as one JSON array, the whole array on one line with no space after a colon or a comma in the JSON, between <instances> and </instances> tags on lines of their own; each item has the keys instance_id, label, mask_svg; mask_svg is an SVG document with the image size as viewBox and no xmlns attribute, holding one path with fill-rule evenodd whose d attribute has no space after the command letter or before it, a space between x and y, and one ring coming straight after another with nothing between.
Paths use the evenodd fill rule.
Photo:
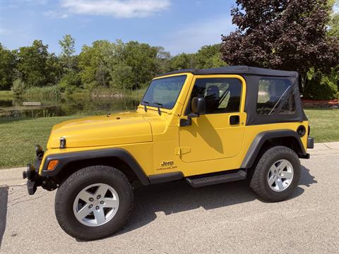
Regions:
<instances>
[{"instance_id":1,"label":"rear side window set in the Jeep's black soft top","mask_svg":"<svg viewBox=\"0 0 339 254\"><path fill-rule=\"evenodd\" d=\"M287 78L261 78L256 111L261 115L294 114L295 96Z\"/></svg>"}]
</instances>

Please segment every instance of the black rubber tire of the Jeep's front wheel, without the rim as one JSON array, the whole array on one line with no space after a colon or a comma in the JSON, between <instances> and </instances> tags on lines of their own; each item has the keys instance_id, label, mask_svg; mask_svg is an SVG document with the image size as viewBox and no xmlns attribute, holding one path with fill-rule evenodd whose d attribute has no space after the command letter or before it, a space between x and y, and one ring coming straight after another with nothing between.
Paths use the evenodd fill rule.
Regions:
<instances>
[{"instance_id":1,"label":"black rubber tire of the Jeep's front wheel, without the rim","mask_svg":"<svg viewBox=\"0 0 339 254\"><path fill-rule=\"evenodd\" d=\"M119 207L114 217L101 226L86 226L76 219L73 202L83 188L95 183L112 186L119 196ZM55 197L55 214L64 231L74 238L91 241L114 234L131 216L133 190L126 176L113 167L90 166L71 174L61 184Z\"/></svg>"}]
</instances>

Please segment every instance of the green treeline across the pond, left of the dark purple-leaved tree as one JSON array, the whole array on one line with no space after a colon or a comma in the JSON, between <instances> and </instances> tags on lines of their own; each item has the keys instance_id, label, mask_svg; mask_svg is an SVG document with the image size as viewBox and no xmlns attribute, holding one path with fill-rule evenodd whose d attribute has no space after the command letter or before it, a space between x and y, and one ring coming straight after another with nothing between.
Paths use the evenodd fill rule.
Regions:
<instances>
[{"instance_id":1,"label":"green treeline across the pond, left of the dark purple-leaved tree","mask_svg":"<svg viewBox=\"0 0 339 254\"><path fill-rule=\"evenodd\" d=\"M136 41L97 40L75 54L75 40L65 35L59 41L61 54L48 52L48 45L35 40L31 46L8 50L0 44L0 90L16 96L46 87L46 96L77 90L112 88L138 90L158 73L182 68L225 66L220 44L203 46L195 54L171 56L163 47ZM41 89L40 89L41 90Z\"/></svg>"}]
</instances>

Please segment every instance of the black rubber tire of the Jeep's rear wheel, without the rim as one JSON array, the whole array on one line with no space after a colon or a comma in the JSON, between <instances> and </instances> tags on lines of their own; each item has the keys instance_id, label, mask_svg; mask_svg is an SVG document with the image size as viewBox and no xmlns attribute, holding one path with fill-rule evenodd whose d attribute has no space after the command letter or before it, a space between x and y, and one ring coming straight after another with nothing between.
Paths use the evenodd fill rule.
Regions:
<instances>
[{"instance_id":1,"label":"black rubber tire of the Jeep's rear wheel, without the rim","mask_svg":"<svg viewBox=\"0 0 339 254\"><path fill-rule=\"evenodd\" d=\"M273 163L287 159L293 167L293 178L290 186L284 191L273 191L268 184L268 171ZM297 188L300 179L300 160L295 151L285 146L275 146L263 153L254 167L250 187L259 198L268 202L286 200Z\"/></svg>"}]
</instances>

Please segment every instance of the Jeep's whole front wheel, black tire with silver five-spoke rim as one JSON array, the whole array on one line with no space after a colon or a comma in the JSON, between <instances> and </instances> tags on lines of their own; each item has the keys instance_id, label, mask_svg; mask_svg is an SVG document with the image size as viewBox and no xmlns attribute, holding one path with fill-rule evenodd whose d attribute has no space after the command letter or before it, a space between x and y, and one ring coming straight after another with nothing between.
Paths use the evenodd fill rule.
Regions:
<instances>
[{"instance_id":1,"label":"Jeep's whole front wheel, black tire with silver five-spoke rim","mask_svg":"<svg viewBox=\"0 0 339 254\"><path fill-rule=\"evenodd\" d=\"M107 166L76 171L61 184L55 214L67 234L85 241L112 235L124 226L133 207L126 176Z\"/></svg>"}]
</instances>

